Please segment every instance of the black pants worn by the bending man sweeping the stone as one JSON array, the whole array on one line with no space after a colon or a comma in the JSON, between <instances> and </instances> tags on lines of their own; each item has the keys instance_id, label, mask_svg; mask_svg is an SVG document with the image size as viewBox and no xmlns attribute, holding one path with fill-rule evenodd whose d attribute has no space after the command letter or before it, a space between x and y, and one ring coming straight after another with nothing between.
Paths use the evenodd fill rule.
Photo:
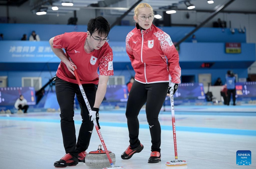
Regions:
<instances>
[{"instance_id":1,"label":"black pants worn by the bending man sweeping the stone","mask_svg":"<svg viewBox=\"0 0 256 169\"><path fill-rule=\"evenodd\" d=\"M75 157L78 153L87 150L92 136L93 123L89 120L89 111L85 105L84 98L81 94L79 86L56 78L55 83L57 100L60 105L60 127L63 137L63 144L66 153L70 153ZM84 84L84 92L93 107L97 87L94 84ZM81 108L82 124L76 143L76 130L74 124L74 99L75 94Z\"/></svg>"}]
</instances>

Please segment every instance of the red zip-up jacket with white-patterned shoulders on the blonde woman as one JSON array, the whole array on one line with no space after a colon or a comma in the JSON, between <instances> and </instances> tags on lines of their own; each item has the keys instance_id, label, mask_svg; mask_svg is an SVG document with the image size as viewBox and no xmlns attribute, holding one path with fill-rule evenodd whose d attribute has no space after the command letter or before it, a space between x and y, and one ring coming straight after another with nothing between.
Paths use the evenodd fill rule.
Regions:
<instances>
[{"instance_id":1,"label":"red zip-up jacket with white-patterned shoulders on the blonde woman","mask_svg":"<svg viewBox=\"0 0 256 169\"><path fill-rule=\"evenodd\" d=\"M128 33L126 52L136 81L143 84L169 82L170 72L172 83L180 84L179 54L170 36L155 25L141 31L135 27Z\"/></svg>"}]
</instances>

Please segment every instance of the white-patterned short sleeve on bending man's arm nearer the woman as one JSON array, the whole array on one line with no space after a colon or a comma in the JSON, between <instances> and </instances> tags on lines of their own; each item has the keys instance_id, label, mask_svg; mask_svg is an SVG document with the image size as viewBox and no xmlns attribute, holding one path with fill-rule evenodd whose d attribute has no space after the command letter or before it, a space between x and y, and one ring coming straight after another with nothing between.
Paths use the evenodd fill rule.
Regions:
<instances>
[{"instance_id":1,"label":"white-patterned short sleeve on bending man's arm nearer the woman","mask_svg":"<svg viewBox=\"0 0 256 169\"><path fill-rule=\"evenodd\" d=\"M113 52L109 52L102 57L99 65L99 71L100 71L100 75L103 75L103 76L114 75Z\"/></svg>"}]
</instances>

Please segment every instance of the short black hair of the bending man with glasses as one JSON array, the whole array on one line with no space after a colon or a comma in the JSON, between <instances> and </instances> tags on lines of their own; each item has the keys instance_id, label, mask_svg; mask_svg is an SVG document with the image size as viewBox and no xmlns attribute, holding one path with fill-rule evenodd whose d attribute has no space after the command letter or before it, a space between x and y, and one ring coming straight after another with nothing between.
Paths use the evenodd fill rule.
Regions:
<instances>
[{"instance_id":1,"label":"short black hair of the bending man with glasses","mask_svg":"<svg viewBox=\"0 0 256 169\"><path fill-rule=\"evenodd\" d=\"M100 36L108 36L110 31L110 26L107 19L103 17L96 17L90 19L87 25L87 30L92 34L95 31L98 31Z\"/></svg>"}]
</instances>

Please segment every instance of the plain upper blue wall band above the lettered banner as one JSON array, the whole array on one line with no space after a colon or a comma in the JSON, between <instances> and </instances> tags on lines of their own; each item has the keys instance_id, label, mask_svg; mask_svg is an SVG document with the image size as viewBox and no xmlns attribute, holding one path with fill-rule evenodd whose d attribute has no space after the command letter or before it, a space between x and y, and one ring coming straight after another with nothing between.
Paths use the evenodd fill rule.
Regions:
<instances>
[{"instance_id":1,"label":"plain upper blue wall band above the lettered banner","mask_svg":"<svg viewBox=\"0 0 256 169\"><path fill-rule=\"evenodd\" d=\"M109 33L110 41L125 41L126 35L135 26L114 26ZM160 27L168 33L173 42L178 42L195 27ZM50 40L53 36L65 32L86 32L85 25L46 25L46 24L0 24L1 33L4 33L5 40L20 40L24 33L29 35L33 30L40 36L41 40ZM246 42L246 34L231 34L228 28L206 28L202 27L195 33L198 42ZM191 41L191 37L185 40Z\"/></svg>"}]
</instances>

